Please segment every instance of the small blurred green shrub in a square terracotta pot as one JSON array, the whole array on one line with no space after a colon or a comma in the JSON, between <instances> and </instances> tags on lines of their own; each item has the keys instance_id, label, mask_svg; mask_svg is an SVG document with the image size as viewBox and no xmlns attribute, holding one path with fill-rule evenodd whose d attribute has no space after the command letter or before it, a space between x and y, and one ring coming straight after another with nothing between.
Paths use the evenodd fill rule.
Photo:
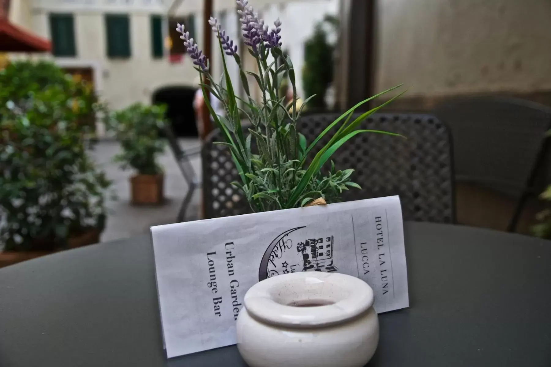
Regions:
<instances>
[{"instance_id":1,"label":"small blurred green shrub in a square terracotta pot","mask_svg":"<svg viewBox=\"0 0 551 367\"><path fill-rule=\"evenodd\" d=\"M109 129L121 145L122 152L115 156L121 168L137 171L130 178L131 202L134 205L160 204L164 201L164 174L157 156L164 151L165 143L159 130L165 124L164 106L145 106L134 103L112 114Z\"/></svg>"}]
</instances>

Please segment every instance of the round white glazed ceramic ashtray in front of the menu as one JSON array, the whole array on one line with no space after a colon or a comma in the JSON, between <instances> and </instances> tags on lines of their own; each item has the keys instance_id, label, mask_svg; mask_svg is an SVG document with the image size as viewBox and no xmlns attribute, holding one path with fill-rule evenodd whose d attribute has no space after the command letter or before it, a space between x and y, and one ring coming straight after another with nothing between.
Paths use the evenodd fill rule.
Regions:
<instances>
[{"instance_id":1,"label":"round white glazed ceramic ashtray in front of the menu","mask_svg":"<svg viewBox=\"0 0 551 367\"><path fill-rule=\"evenodd\" d=\"M377 343L371 287L339 273L267 278L237 317L237 348L251 367L363 367Z\"/></svg>"}]
</instances>

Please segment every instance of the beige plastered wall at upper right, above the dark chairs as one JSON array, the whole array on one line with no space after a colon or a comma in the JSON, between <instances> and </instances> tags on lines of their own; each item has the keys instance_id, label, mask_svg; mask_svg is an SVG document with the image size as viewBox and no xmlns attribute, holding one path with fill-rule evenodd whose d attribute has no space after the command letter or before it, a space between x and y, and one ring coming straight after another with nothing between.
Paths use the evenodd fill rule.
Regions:
<instances>
[{"instance_id":1,"label":"beige plastered wall at upper right, above the dark chairs","mask_svg":"<svg viewBox=\"0 0 551 367\"><path fill-rule=\"evenodd\" d=\"M549 0L381 0L376 14L376 91L404 83L428 107L458 94L549 96Z\"/></svg>"}]
</instances>

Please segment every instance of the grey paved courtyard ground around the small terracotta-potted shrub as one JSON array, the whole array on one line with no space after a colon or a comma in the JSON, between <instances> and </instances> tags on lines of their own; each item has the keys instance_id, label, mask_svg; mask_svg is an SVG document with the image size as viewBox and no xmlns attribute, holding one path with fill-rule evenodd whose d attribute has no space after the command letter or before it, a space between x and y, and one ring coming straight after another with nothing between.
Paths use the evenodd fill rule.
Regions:
<instances>
[{"instance_id":1,"label":"grey paved courtyard ground around the small terracotta-potted shrub","mask_svg":"<svg viewBox=\"0 0 551 367\"><path fill-rule=\"evenodd\" d=\"M197 149L199 141L197 139L181 139L180 144L185 150ZM131 206L129 204L130 187L128 178L132 176L133 172L122 171L116 163L112 162L112 157L117 154L119 149L115 141L102 140L91 152L96 162L106 171L107 176L113 180L112 189L115 190L118 196L116 201L109 201L107 204L109 213L107 227L101 236L102 242L148 233L149 227L157 224L174 223L187 191L186 182L176 165L174 156L167 148L165 154L159 160L159 163L165 169L165 196L167 199L165 204L148 207ZM198 155L192 158L192 165L200 176L201 159ZM199 190L196 190L187 212L189 220L198 218L200 199Z\"/></svg>"}]
</instances>

